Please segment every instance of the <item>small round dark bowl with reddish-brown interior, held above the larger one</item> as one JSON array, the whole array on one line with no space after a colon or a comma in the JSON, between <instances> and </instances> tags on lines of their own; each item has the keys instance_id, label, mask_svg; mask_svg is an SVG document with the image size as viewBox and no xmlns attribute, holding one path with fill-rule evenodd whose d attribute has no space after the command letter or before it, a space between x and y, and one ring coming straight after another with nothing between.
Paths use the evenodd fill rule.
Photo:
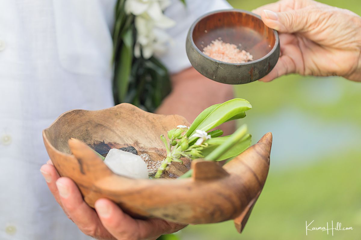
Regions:
<instances>
[{"instance_id":1,"label":"small round dark bowl with reddish-brown interior, held above the larger one","mask_svg":"<svg viewBox=\"0 0 361 240\"><path fill-rule=\"evenodd\" d=\"M222 62L203 53L203 48L221 38L226 43L241 44L253 55L247 63ZM219 10L200 17L188 32L186 50L192 66L211 80L243 84L266 76L279 58L277 31L267 27L261 17L239 9Z\"/></svg>"}]
</instances>

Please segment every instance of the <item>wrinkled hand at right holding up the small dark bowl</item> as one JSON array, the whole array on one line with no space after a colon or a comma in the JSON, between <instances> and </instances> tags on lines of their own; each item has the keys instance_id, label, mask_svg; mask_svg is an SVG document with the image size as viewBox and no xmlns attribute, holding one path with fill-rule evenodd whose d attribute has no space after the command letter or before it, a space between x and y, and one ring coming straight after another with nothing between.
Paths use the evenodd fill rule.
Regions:
<instances>
[{"instance_id":1,"label":"wrinkled hand at right holding up the small dark bowl","mask_svg":"<svg viewBox=\"0 0 361 240\"><path fill-rule=\"evenodd\" d=\"M313 0L280 0L253 10L277 30L281 54L260 81L288 73L361 81L361 17Z\"/></svg>"}]
</instances>

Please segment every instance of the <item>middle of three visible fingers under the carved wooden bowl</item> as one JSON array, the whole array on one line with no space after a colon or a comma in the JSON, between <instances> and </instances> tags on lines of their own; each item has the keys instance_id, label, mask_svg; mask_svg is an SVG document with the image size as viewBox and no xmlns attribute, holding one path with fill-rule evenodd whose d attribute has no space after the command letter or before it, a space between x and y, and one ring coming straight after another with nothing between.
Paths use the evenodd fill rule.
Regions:
<instances>
[{"instance_id":1,"label":"middle of three visible fingers under the carved wooden bowl","mask_svg":"<svg viewBox=\"0 0 361 240\"><path fill-rule=\"evenodd\" d=\"M84 234L99 239L114 239L101 224L95 210L84 202L73 181L61 177L56 181L56 186L64 210Z\"/></svg>"}]
</instances>

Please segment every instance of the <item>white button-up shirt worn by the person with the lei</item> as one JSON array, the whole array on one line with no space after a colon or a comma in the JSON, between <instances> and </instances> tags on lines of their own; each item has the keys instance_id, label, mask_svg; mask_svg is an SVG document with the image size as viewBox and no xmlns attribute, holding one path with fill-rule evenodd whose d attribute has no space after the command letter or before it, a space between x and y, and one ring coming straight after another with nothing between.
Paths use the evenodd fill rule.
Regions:
<instances>
[{"instance_id":1,"label":"white button-up shirt worn by the person with the lei","mask_svg":"<svg viewBox=\"0 0 361 240\"><path fill-rule=\"evenodd\" d=\"M112 24L116 0L0 0L0 239L88 237L62 212L39 172L48 160L42 130L70 109L111 107ZM190 67L185 40L205 12L224 0L179 0L170 72Z\"/></svg>"}]
</instances>

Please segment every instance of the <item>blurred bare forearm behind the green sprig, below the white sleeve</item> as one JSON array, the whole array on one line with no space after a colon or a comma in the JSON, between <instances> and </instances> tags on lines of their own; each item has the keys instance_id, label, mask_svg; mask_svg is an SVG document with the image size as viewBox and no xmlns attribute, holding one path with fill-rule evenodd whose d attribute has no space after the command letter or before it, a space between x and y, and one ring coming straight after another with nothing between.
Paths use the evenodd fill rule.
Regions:
<instances>
[{"instance_id":1,"label":"blurred bare forearm behind the green sprig, below the white sleeve","mask_svg":"<svg viewBox=\"0 0 361 240\"><path fill-rule=\"evenodd\" d=\"M192 122L210 105L223 103L234 97L233 87L214 82L194 68L188 68L171 76L173 90L157 109L159 114L179 114ZM235 130L235 122L222 124L225 134Z\"/></svg>"}]
</instances>

